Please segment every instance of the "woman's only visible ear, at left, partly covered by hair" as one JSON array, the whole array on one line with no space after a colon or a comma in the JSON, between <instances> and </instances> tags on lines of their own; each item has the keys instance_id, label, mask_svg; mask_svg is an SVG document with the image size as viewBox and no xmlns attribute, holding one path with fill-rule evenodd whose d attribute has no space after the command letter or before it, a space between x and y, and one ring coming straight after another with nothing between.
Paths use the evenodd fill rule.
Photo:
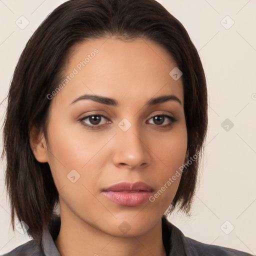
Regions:
<instances>
[{"instance_id":1,"label":"woman's only visible ear, at left, partly covered by hair","mask_svg":"<svg viewBox=\"0 0 256 256\"><path fill-rule=\"evenodd\" d=\"M35 126L30 128L29 143L35 159L39 162L48 162L47 146L43 132Z\"/></svg>"}]
</instances>

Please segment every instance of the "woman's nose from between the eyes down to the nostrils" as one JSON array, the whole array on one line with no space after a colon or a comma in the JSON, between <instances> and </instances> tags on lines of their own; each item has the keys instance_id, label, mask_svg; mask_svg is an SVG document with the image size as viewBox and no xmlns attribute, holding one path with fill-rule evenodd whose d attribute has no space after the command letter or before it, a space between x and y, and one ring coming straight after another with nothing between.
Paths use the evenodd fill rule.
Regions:
<instances>
[{"instance_id":1,"label":"woman's nose from between the eyes down to the nostrils","mask_svg":"<svg viewBox=\"0 0 256 256\"><path fill-rule=\"evenodd\" d=\"M136 169L150 164L146 134L142 136L142 131L136 125L131 125L126 131L118 127L114 145L115 166Z\"/></svg>"}]
</instances>

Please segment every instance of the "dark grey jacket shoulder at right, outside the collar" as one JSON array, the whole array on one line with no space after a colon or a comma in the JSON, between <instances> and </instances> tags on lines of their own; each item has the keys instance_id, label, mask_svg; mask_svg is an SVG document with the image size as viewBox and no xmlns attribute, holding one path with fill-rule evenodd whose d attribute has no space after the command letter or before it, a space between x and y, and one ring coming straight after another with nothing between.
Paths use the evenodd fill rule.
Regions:
<instances>
[{"instance_id":1,"label":"dark grey jacket shoulder at right, outside the collar","mask_svg":"<svg viewBox=\"0 0 256 256\"><path fill-rule=\"evenodd\" d=\"M251 256L247 252L223 247L219 245L206 244L189 237L184 237L188 250L194 252L192 255L220 255L220 256Z\"/></svg>"}]
</instances>

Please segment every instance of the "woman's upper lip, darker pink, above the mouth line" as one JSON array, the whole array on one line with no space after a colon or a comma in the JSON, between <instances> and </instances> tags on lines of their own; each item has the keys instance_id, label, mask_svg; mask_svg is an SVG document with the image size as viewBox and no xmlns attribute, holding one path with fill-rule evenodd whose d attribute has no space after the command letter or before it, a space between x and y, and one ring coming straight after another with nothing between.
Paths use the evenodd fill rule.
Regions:
<instances>
[{"instance_id":1,"label":"woman's upper lip, darker pink, above the mouth line","mask_svg":"<svg viewBox=\"0 0 256 256\"><path fill-rule=\"evenodd\" d=\"M137 181L135 183L119 182L103 189L103 191L139 191L139 190L153 191L153 188L142 181Z\"/></svg>"}]
</instances>

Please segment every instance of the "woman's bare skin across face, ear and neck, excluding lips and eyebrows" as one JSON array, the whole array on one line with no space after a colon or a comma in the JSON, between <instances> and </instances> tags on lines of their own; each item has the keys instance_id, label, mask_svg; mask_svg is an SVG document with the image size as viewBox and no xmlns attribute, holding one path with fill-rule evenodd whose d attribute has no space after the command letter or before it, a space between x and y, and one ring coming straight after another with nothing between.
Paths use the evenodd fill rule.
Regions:
<instances>
[{"instance_id":1,"label":"woman's bare skin across face, ear and neck, excluding lips and eyebrows","mask_svg":"<svg viewBox=\"0 0 256 256\"><path fill-rule=\"evenodd\" d=\"M51 99L48 143L43 133L32 129L30 134L34 155L48 162L59 192L61 227L55 244L62 256L166 255L161 216L180 176L154 202L138 206L117 204L102 189L120 181L143 181L155 193L184 163L182 80L169 75L176 64L164 48L139 38L91 39L74 45L65 75L95 48L99 52ZM114 98L119 105L90 99L70 104L85 93ZM181 104L169 100L145 106L151 97L165 94L175 95ZM107 117L101 117L96 129L82 125L93 125L93 120L79 120L92 113ZM165 118L161 124L151 118L162 114L176 121ZM127 131L118 126L123 118L131 124ZM74 183L67 178L72 169L80 175ZM123 221L130 227L126 233L118 228Z\"/></svg>"}]
</instances>

